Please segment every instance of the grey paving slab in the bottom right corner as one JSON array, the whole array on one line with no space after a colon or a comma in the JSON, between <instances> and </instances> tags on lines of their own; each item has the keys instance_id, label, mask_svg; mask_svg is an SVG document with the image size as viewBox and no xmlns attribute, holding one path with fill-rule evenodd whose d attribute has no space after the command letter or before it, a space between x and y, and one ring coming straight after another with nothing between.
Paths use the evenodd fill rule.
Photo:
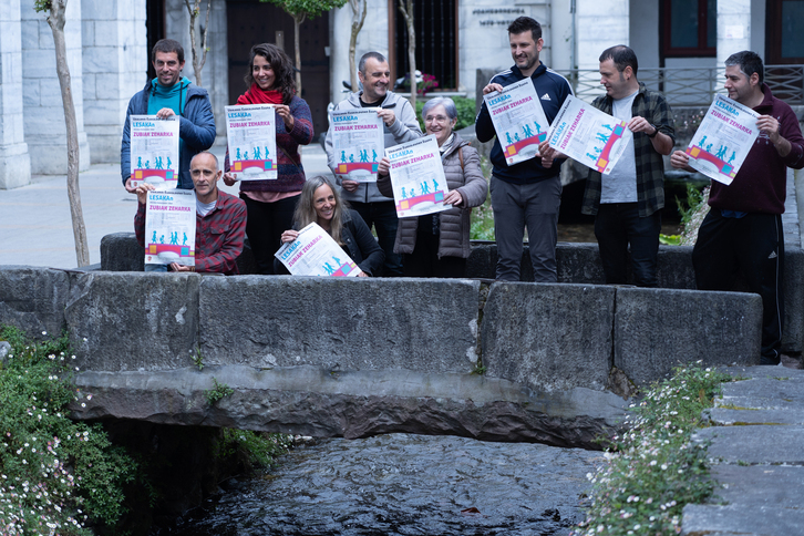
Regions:
<instances>
[{"instance_id":1,"label":"grey paving slab in the bottom right corner","mask_svg":"<svg viewBox=\"0 0 804 536\"><path fill-rule=\"evenodd\" d=\"M776 506L687 505L682 536L801 536L804 511Z\"/></svg>"}]
</instances>

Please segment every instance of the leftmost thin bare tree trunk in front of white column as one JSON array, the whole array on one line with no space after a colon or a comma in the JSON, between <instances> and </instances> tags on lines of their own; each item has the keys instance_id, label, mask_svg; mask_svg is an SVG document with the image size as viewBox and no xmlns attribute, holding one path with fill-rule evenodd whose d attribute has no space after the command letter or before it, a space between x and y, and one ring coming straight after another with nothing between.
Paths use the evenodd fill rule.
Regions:
<instances>
[{"instance_id":1,"label":"leftmost thin bare tree trunk in front of white column","mask_svg":"<svg viewBox=\"0 0 804 536\"><path fill-rule=\"evenodd\" d=\"M55 71L61 86L61 100L64 105L64 123L68 136L68 198L70 199L70 216L73 224L75 240L75 259L79 267L89 266L90 248L86 244L86 227L84 226L83 210L81 209L81 190L79 188L79 125L75 120L75 105L70 87L70 68L66 62L66 44L64 42L64 11L68 0L53 0L50 7L48 24L53 31L55 44Z\"/></svg>"}]
</instances>

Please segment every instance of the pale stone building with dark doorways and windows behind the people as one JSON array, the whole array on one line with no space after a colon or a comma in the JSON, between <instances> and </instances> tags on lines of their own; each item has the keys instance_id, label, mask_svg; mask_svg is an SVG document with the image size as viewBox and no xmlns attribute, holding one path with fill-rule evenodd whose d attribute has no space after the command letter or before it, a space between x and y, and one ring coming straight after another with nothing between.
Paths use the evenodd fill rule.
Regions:
<instances>
[{"instance_id":1,"label":"pale stone building with dark doorways and windows behind the people","mask_svg":"<svg viewBox=\"0 0 804 536\"><path fill-rule=\"evenodd\" d=\"M53 38L44 14L37 13L33 4L34 0L0 2L0 188L28 184L31 174L66 169ZM406 35L395 4L368 0L357 53L385 53L393 75L401 78L406 69ZM717 69L742 49L757 51L770 64L804 63L804 41L794 39L802 30L804 1L418 0L416 4L419 69L434 74L440 90L468 96L477 90L478 69L511 65L505 28L520 14L544 25L543 61L559 71L579 69L578 78L586 76L590 84L596 83L600 51L617 43L637 51L640 70ZM279 42L292 54L293 27L280 8L259 0L213 0L212 6L203 81L223 143L224 106L246 89L248 50L258 42ZM301 27L302 96L317 132L327 128L328 103L346 96L341 81L350 79L351 18L347 4ZM183 42L184 74L195 79L188 28L183 0L69 1L65 38L82 169L90 163L118 162L128 99L148 80L148 50L156 40L171 37Z\"/></svg>"}]
</instances>

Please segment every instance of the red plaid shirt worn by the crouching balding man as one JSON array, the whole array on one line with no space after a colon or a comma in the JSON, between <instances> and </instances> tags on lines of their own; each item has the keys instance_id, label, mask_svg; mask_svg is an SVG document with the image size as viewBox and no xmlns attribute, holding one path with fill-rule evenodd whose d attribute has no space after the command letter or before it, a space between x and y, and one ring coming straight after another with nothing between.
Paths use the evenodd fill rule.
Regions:
<instances>
[{"instance_id":1,"label":"red plaid shirt worn by the crouching balding man","mask_svg":"<svg viewBox=\"0 0 804 536\"><path fill-rule=\"evenodd\" d=\"M145 205L137 206L134 233L145 247ZM218 190L215 208L203 218L195 215L195 271L236 276L237 257L246 237L246 203Z\"/></svg>"}]
</instances>

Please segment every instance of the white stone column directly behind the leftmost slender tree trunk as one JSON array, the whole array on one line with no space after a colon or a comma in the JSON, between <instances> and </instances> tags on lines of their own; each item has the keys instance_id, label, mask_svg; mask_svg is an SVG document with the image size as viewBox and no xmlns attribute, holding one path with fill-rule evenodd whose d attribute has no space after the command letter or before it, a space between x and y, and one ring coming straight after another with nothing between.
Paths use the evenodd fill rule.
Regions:
<instances>
[{"instance_id":1,"label":"white stone column directly behind the leftmost slender tree trunk","mask_svg":"<svg viewBox=\"0 0 804 536\"><path fill-rule=\"evenodd\" d=\"M6 2L8 3L8 2ZM59 78L55 73L53 32L45 13L33 10L33 0L20 0L22 18L22 95L24 132L31 173L66 174L66 126ZM84 85L81 61L81 3L68 2L66 41L75 118L79 126L80 169L90 167L90 145L84 132ZM3 37L4 39L4 37Z\"/></svg>"}]
</instances>

